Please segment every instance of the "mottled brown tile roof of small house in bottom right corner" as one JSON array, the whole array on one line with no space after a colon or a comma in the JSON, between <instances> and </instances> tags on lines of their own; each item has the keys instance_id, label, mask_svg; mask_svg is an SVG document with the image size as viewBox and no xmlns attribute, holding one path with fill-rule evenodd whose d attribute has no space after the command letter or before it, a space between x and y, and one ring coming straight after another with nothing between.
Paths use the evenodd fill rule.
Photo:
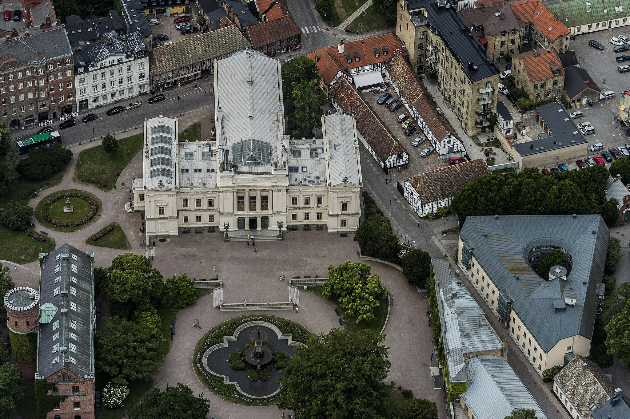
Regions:
<instances>
[{"instance_id":1,"label":"mottled brown tile roof of small house in bottom right corner","mask_svg":"<svg viewBox=\"0 0 630 419\"><path fill-rule=\"evenodd\" d=\"M582 371L582 364L587 364L586 371ZM566 396L585 419L591 418L592 411L588 408L591 403L595 403L596 409L600 408L615 394L612 383L600 367L579 355L556 374L554 381L563 388Z\"/></svg>"}]
</instances>

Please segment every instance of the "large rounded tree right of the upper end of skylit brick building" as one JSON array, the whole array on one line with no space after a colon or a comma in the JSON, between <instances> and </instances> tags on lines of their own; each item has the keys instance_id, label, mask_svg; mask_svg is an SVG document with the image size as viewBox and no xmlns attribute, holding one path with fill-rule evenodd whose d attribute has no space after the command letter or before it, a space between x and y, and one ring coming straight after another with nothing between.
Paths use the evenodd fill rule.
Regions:
<instances>
[{"instance_id":1,"label":"large rounded tree right of the upper end of skylit brick building","mask_svg":"<svg viewBox=\"0 0 630 419\"><path fill-rule=\"evenodd\" d=\"M162 275L144 255L125 253L112 260L105 293L110 301L145 308L157 299L163 287Z\"/></svg>"}]
</instances>

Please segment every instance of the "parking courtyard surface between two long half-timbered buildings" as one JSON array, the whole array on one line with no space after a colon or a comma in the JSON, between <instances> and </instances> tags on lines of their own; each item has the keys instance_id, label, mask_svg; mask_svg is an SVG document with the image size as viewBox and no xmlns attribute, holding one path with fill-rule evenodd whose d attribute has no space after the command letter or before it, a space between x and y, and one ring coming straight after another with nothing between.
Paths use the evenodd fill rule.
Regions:
<instances>
[{"instance_id":1,"label":"parking courtyard surface between two long half-timbered buildings","mask_svg":"<svg viewBox=\"0 0 630 419\"><path fill-rule=\"evenodd\" d=\"M386 90L387 93L391 94L392 97L398 98L398 94L392 87L388 87ZM413 147L411 142L415 140L417 137L427 137L423 131L418 128L415 133L410 136L404 135L403 124L399 123L397 120L398 116L405 113L409 114L407 108L401 106L396 109L396 111L391 112L384 105L379 105L376 101L384 94L384 92L379 93L360 93L361 97L364 99L365 103L367 103L373 110L376 115L381 118L381 121L389 128L391 133L394 135L396 140L398 140L401 145L407 150L409 153L409 167L408 172L410 176L418 173L428 172L429 170L436 169L437 167L444 167L446 163L442 162L440 156L435 152L428 155L428 157L422 157L420 152L427 147L431 147L431 143L426 140L421 143L418 147Z\"/></svg>"}]
</instances>

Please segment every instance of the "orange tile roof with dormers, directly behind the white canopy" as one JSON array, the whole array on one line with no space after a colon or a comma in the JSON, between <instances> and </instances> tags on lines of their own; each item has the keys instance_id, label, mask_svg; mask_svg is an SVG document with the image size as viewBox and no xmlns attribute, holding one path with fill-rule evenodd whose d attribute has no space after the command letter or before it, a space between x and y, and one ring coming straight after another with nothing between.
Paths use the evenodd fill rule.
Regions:
<instances>
[{"instance_id":1,"label":"orange tile roof with dormers, directly behind the white canopy","mask_svg":"<svg viewBox=\"0 0 630 419\"><path fill-rule=\"evenodd\" d=\"M387 55L383 55L382 47L387 47ZM387 62L392 59L392 55L396 50L401 50L403 45L399 42L396 35L393 33L386 33L384 35L371 36L370 38L364 38L356 41L350 41L343 44L343 53L339 53L338 45L331 45L329 47L321 48L321 50L317 50L315 52L311 52L307 55L311 60L314 60L318 63L319 75L326 82L326 84L330 84L335 75L341 69L341 67L347 67L348 69L355 69L357 67L364 67L365 65L377 64L379 62ZM374 48L379 48L381 52L380 57L376 57L374 54ZM360 56L359 61L355 61L354 57L352 59L352 63L348 63L346 59L346 54L354 55L357 52ZM404 52L405 56L408 56L409 53ZM335 62L335 66L337 70L333 73L331 69L331 65L328 65L328 69L320 69L319 61L316 60L315 57L317 55L321 55L324 57L328 55L328 57Z\"/></svg>"}]
</instances>

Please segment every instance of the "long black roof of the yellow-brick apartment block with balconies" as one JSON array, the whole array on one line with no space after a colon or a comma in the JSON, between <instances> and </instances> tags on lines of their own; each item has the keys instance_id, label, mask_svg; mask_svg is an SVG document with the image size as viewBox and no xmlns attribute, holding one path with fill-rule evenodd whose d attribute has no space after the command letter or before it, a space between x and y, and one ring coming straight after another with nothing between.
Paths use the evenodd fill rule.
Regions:
<instances>
[{"instance_id":1,"label":"long black roof of the yellow-brick apartment block with balconies","mask_svg":"<svg viewBox=\"0 0 630 419\"><path fill-rule=\"evenodd\" d=\"M433 0L405 1L410 11L427 9L428 24L438 31L445 45L457 57L471 81L476 82L499 74L499 68L495 62L486 55L486 50L481 43L468 31L469 28L459 18L456 8L449 0L447 0L448 8L438 8L437 2ZM467 63L470 61L478 67L477 70L468 67Z\"/></svg>"}]
</instances>

